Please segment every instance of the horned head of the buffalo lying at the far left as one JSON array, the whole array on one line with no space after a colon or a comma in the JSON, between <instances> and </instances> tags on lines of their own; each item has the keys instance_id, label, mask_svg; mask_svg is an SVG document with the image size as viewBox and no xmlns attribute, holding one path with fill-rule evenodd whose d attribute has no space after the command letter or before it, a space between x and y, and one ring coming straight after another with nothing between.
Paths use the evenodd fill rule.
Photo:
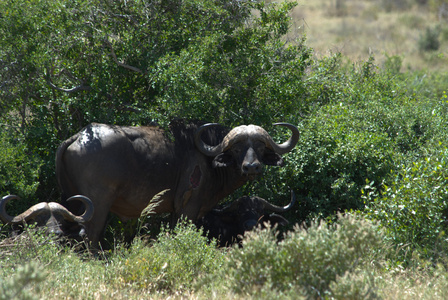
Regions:
<instances>
[{"instance_id":1,"label":"horned head of the buffalo lying at the far left","mask_svg":"<svg viewBox=\"0 0 448 300\"><path fill-rule=\"evenodd\" d=\"M13 230L18 230L24 224L35 224L44 227L48 233L57 237L69 237L81 240L85 237L84 224L92 219L93 203L85 196L76 195L67 201L78 200L85 207L82 215L72 214L64 206L56 202L41 202L33 205L18 216L12 217L6 212L6 204L10 200L19 200L15 195L8 195L0 201L0 220L5 224L11 224ZM75 201L76 202L76 201Z\"/></svg>"}]
</instances>

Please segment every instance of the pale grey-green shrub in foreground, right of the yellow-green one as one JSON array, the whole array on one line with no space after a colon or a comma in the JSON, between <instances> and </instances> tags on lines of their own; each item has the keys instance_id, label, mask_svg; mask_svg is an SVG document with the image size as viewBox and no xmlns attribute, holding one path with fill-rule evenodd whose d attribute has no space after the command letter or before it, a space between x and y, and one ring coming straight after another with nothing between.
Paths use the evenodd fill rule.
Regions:
<instances>
[{"instance_id":1,"label":"pale grey-green shrub in foreground, right of the yellow-green one","mask_svg":"<svg viewBox=\"0 0 448 300\"><path fill-rule=\"evenodd\" d=\"M347 291L345 279L340 278L355 274L357 266L371 257L371 250L380 247L381 239L377 226L353 216L340 216L330 226L324 222L309 228L296 226L278 244L272 228L249 232L243 248L229 253L218 282L227 283L238 294L266 292L267 288L280 293L293 289L296 296L331 297L330 285L341 285L338 290L345 289L347 295L361 294L365 291L359 284ZM363 281L374 288L369 278Z\"/></svg>"}]
</instances>

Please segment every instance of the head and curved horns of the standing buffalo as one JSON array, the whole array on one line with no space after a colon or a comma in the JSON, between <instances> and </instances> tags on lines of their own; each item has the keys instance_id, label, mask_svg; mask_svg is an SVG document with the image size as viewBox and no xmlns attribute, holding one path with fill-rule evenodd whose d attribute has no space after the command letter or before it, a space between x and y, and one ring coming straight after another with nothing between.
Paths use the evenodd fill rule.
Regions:
<instances>
[{"instance_id":1,"label":"head and curved horns of the standing buffalo","mask_svg":"<svg viewBox=\"0 0 448 300\"><path fill-rule=\"evenodd\" d=\"M240 168L241 174L253 179L263 170L263 164L282 166L282 154L291 151L299 140L299 130L289 123L276 123L291 130L292 135L283 144L274 142L269 133L256 125L242 125L232 129L217 146L210 146L203 142L201 133L211 126L218 124L208 123L198 128L195 134L195 144L199 151L207 156L214 157L214 167L228 167L235 165Z\"/></svg>"}]
</instances>

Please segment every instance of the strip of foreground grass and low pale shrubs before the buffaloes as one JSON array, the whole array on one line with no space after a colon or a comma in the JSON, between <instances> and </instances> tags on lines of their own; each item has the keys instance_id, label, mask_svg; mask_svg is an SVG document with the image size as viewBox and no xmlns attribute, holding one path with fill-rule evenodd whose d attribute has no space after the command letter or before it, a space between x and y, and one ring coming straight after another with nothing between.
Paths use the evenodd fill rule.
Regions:
<instances>
[{"instance_id":1,"label":"strip of foreground grass and low pale shrubs before the buffaloes","mask_svg":"<svg viewBox=\"0 0 448 300\"><path fill-rule=\"evenodd\" d=\"M0 245L0 299L442 299L442 265L391 266L377 225L354 215L248 233L219 249L191 223L92 256L28 231Z\"/></svg>"}]
</instances>

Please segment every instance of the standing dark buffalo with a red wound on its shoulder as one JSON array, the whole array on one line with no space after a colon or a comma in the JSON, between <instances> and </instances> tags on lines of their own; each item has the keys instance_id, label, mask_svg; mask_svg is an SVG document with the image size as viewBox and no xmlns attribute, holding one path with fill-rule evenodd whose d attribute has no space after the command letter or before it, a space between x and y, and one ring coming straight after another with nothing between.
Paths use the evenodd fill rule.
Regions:
<instances>
[{"instance_id":1,"label":"standing dark buffalo with a red wound on its shoulder","mask_svg":"<svg viewBox=\"0 0 448 300\"><path fill-rule=\"evenodd\" d=\"M123 220L138 218L162 190L169 191L155 213L172 213L173 222L181 216L196 221L261 174L263 164L283 164L281 155L295 147L299 131L287 123L274 125L292 132L288 141L277 144L255 125L228 131L218 124L176 121L165 132L155 126L90 124L57 151L63 199L82 194L93 201L95 213L86 229L94 247L109 211Z\"/></svg>"}]
</instances>

